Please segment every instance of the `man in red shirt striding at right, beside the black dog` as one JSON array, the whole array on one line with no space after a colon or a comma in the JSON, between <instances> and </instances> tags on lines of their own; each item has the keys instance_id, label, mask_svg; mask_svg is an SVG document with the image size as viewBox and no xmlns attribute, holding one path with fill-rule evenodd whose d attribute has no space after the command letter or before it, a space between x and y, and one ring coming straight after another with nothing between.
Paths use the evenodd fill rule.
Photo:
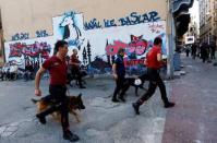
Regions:
<instances>
[{"instance_id":1,"label":"man in red shirt striding at right, beside the black dog","mask_svg":"<svg viewBox=\"0 0 217 143\"><path fill-rule=\"evenodd\" d=\"M154 95L157 86L160 90L161 99L165 104L165 108L174 106L174 103L170 103L168 100L165 84L159 75L160 67L162 64L161 45L162 39L159 37L155 38L154 47L148 51L146 56L146 67L149 86L147 92L136 103L132 104L136 115L140 115L140 106Z\"/></svg>"}]
</instances>

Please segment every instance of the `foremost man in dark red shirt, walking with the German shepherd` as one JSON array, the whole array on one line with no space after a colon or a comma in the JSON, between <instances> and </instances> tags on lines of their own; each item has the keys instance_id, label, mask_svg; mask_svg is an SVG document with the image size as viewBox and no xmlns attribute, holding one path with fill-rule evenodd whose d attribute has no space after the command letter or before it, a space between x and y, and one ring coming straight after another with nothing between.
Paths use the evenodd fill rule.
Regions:
<instances>
[{"instance_id":1,"label":"foremost man in dark red shirt, walking with the German shepherd","mask_svg":"<svg viewBox=\"0 0 217 143\"><path fill-rule=\"evenodd\" d=\"M51 106L47 110L36 115L40 123L46 123L46 116L60 110L61 111L61 126L63 130L63 139L72 142L79 141L79 136L70 131L69 124L69 109L67 105L67 62L65 57L68 53L68 43L64 40L58 40L55 45L55 55L47 59L43 67L37 71L35 78L35 95L41 96L39 88L40 78L43 73L48 70L50 74L49 93L50 95L41 98L44 100L53 99L56 105Z\"/></svg>"}]
</instances>

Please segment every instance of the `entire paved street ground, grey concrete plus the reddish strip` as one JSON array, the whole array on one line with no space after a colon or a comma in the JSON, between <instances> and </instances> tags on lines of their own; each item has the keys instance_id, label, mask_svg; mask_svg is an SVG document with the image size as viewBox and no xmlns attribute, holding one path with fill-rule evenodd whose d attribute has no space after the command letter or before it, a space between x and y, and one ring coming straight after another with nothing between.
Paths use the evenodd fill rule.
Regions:
<instances>
[{"instance_id":1,"label":"entire paved street ground, grey concrete plus the reddish strip","mask_svg":"<svg viewBox=\"0 0 217 143\"><path fill-rule=\"evenodd\" d=\"M182 62L186 74L166 81L168 96L177 103L171 109L164 108L157 91L135 116L133 87L125 104L112 104L114 82L109 75L86 79L86 90L70 87L71 94L83 94L86 106L80 123L70 116L79 143L216 143L217 67L185 57ZM46 95L46 79L41 90ZM33 97L33 81L0 82L0 143L68 143L51 117L46 126L36 120Z\"/></svg>"}]
</instances>

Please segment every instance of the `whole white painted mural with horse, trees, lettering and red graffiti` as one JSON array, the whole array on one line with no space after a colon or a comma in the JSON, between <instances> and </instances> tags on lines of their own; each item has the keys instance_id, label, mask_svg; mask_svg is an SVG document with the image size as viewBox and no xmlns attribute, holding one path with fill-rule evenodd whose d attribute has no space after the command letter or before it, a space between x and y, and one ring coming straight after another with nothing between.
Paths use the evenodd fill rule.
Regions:
<instances>
[{"instance_id":1,"label":"whole white painted mural with horse, trees, lettering and red graffiti","mask_svg":"<svg viewBox=\"0 0 217 143\"><path fill-rule=\"evenodd\" d=\"M76 48L83 65L91 63L100 70L110 68L119 48L125 49L128 68L140 67L155 37L162 38L162 52L167 55L166 21L161 21L156 11L143 14L132 12L117 20L105 19L104 22L96 19L85 22L83 17L83 13L68 12L52 17L52 36L5 43L7 61L43 61L51 56L58 39L69 43L69 56Z\"/></svg>"}]
</instances>

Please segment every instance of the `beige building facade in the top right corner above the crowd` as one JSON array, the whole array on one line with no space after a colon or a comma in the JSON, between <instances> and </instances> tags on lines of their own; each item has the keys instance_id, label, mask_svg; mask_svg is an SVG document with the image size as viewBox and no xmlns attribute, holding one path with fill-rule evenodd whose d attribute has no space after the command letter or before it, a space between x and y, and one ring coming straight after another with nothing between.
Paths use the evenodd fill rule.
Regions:
<instances>
[{"instance_id":1,"label":"beige building facade in the top right corner above the crowd","mask_svg":"<svg viewBox=\"0 0 217 143\"><path fill-rule=\"evenodd\" d=\"M217 44L217 1L200 0L200 40Z\"/></svg>"}]
</instances>

